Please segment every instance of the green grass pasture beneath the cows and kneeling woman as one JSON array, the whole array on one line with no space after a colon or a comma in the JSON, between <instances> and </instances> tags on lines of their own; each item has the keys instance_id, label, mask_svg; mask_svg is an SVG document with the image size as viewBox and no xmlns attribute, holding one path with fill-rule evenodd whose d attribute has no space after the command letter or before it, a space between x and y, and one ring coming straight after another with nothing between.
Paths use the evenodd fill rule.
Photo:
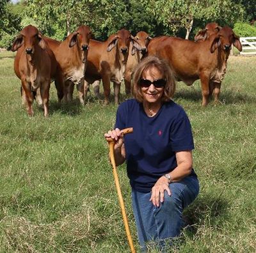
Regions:
<instances>
[{"instance_id":1,"label":"green grass pasture beneath the cows and kneeling woman","mask_svg":"<svg viewBox=\"0 0 256 253\"><path fill-rule=\"evenodd\" d=\"M49 118L36 104L29 118L13 56L0 53L0 252L129 252L103 137L116 106L93 95L84 107L58 105L52 86ZM256 57L228 59L216 106L200 106L199 82L177 85L201 189L172 252L256 252L255 66ZM125 165L118 173L138 249Z\"/></svg>"}]
</instances>

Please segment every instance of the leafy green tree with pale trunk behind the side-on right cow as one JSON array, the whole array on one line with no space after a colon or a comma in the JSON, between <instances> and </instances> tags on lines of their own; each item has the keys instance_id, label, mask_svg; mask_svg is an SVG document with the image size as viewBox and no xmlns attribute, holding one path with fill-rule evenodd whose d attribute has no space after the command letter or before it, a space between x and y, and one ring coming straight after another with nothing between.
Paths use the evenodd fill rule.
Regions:
<instances>
[{"instance_id":1,"label":"leafy green tree with pale trunk behind the side-on right cow","mask_svg":"<svg viewBox=\"0 0 256 253\"><path fill-rule=\"evenodd\" d=\"M147 10L157 17L164 26L177 33L179 29L186 29L186 39L195 20L234 20L243 14L241 4L234 4L231 0L148 0Z\"/></svg>"}]
</instances>

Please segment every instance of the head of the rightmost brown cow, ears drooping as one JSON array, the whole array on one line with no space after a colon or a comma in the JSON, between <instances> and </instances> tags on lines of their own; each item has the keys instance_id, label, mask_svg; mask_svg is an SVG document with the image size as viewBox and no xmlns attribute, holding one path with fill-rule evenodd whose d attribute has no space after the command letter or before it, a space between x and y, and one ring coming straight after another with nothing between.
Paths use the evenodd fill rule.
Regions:
<instances>
[{"instance_id":1,"label":"head of the rightmost brown cow, ears drooping","mask_svg":"<svg viewBox=\"0 0 256 253\"><path fill-rule=\"evenodd\" d=\"M214 40L212 41L211 52L214 52L218 47L220 47L225 52L230 52L232 44L241 52L242 45L239 37L230 27L224 26L220 29L220 32L215 36Z\"/></svg>"}]
</instances>

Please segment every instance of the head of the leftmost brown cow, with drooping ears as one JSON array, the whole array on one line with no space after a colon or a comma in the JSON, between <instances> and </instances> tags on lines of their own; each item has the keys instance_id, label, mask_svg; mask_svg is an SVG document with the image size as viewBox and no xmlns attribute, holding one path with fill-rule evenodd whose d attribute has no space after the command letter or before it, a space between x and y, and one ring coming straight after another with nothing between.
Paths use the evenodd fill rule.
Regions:
<instances>
[{"instance_id":1,"label":"head of the leftmost brown cow, with drooping ears","mask_svg":"<svg viewBox=\"0 0 256 253\"><path fill-rule=\"evenodd\" d=\"M38 45L41 49L45 49L45 42L42 39L42 34L38 31L35 26L26 26L20 32L20 34L15 38L12 51L18 50L22 45L26 54L34 54L35 47Z\"/></svg>"}]
</instances>

